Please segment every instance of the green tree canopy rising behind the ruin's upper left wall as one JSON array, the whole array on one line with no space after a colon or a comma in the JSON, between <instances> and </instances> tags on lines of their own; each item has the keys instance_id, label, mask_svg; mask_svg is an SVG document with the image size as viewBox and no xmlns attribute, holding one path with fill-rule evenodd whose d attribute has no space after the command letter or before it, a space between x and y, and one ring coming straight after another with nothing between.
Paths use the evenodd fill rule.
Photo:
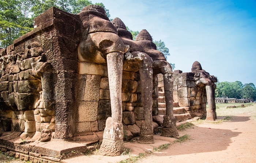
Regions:
<instances>
[{"instance_id":1,"label":"green tree canopy rising behind the ruin's upper left wall","mask_svg":"<svg viewBox=\"0 0 256 163\"><path fill-rule=\"evenodd\" d=\"M0 47L5 48L27 32L33 30L33 20L54 6L63 11L77 14L90 0L0 0ZM105 6L103 3L95 3ZM106 14L110 17L109 10Z\"/></svg>"}]
</instances>

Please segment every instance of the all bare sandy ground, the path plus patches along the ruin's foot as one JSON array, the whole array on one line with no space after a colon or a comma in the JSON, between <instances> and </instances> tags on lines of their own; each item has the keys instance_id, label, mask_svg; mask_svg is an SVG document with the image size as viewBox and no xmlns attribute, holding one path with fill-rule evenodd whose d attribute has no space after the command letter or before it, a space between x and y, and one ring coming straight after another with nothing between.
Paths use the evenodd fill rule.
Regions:
<instances>
[{"instance_id":1,"label":"all bare sandy ground, the path plus patches along the ruin's foot","mask_svg":"<svg viewBox=\"0 0 256 163\"><path fill-rule=\"evenodd\" d=\"M233 120L221 124L200 124L180 131L180 135L191 135L191 140L172 144L162 152L153 152L138 163L256 163L256 120L246 114L232 117ZM125 147L133 150L132 155L138 155L145 150L153 150L153 147L170 143L174 139L159 135L155 135L154 138L155 144L125 143ZM63 162L109 163L119 162L128 157L83 155L65 159ZM0 162L6 161L5 158L0 158ZM11 160L9 163L24 162Z\"/></svg>"}]
</instances>

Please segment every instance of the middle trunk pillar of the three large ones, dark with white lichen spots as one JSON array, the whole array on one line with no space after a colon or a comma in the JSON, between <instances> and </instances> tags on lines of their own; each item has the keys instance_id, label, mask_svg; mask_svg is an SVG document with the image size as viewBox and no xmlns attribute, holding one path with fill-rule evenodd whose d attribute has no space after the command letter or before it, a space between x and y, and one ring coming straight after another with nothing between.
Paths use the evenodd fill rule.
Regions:
<instances>
[{"instance_id":1,"label":"middle trunk pillar of the three large ones, dark with white lichen spots","mask_svg":"<svg viewBox=\"0 0 256 163\"><path fill-rule=\"evenodd\" d=\"M152 82L153 69L151 67L141 67L140 83L142 93L142 104L144 109L144 119L140 127L140 143L153 144L154 133L152 126Z\"/></svg>"}]
</instances>

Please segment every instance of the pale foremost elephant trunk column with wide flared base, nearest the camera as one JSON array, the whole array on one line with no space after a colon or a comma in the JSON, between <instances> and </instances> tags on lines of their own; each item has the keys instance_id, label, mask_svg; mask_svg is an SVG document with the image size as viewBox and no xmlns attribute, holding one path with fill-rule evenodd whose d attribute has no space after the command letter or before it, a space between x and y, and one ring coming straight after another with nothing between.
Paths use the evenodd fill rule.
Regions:
<instances>
[{"instance_id":1,"label":"pale foremost elephant trunk column with wide flared base, nearest the camera","mask_svg":"<svg viewBox=\"0 0 256 163\"><path fill-rule=\"evenodd\" d=\"M112 117L108 117L106 120L99 153L118 156L124 151L121 99L123 54L109 53L107 55L107 64Z\"/></svg>"}]
</instances>

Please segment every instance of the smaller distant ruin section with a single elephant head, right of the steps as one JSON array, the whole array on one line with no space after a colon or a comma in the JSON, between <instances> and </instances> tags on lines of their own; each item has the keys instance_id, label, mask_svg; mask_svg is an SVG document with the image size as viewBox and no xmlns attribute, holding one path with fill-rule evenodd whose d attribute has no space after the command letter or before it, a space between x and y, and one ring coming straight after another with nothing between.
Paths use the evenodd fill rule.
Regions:
<instances>
[{"instance_id":1,"label":"smaller distant ruin section with a single elephant head, right of the steps","mask_svg":"<svg viewBox=\"0 0 256 163\"><path fill-rule=\"evenodd\" d=\"M162 75L158 75L158 81L159 91L163 91ZM217 118L215 82L217 82L217 78L203 70L201 64L197 61L193 63L191 72L182 73L181 70L174 70L174 112L183 113L183 117L176 115L176 120L179 121L180 119L184 120L191 119L195 116L204 116L206 120L214 121ZM208 110L206 109L207 102Z\"/></svg>"}]
</instances>

